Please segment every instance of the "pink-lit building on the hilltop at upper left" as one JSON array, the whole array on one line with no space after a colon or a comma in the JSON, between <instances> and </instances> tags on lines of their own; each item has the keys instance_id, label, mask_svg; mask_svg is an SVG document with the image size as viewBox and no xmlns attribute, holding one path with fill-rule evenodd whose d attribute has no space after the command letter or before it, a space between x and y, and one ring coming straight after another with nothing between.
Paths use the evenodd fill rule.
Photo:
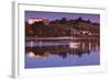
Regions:
<instances>
[{"instance_id":1,"label":"pink-lit building on the hilltop at upper left","mask_svg":"<svg viewBox=\"0 0 110 80\"><path fill-rule=\"evenodd\" d=\"M43 22L45 25L48 25L48 19L45 18L30 18L28 20L29 24L33 24L34 22Z\"/></svg>"}]
</instances>

